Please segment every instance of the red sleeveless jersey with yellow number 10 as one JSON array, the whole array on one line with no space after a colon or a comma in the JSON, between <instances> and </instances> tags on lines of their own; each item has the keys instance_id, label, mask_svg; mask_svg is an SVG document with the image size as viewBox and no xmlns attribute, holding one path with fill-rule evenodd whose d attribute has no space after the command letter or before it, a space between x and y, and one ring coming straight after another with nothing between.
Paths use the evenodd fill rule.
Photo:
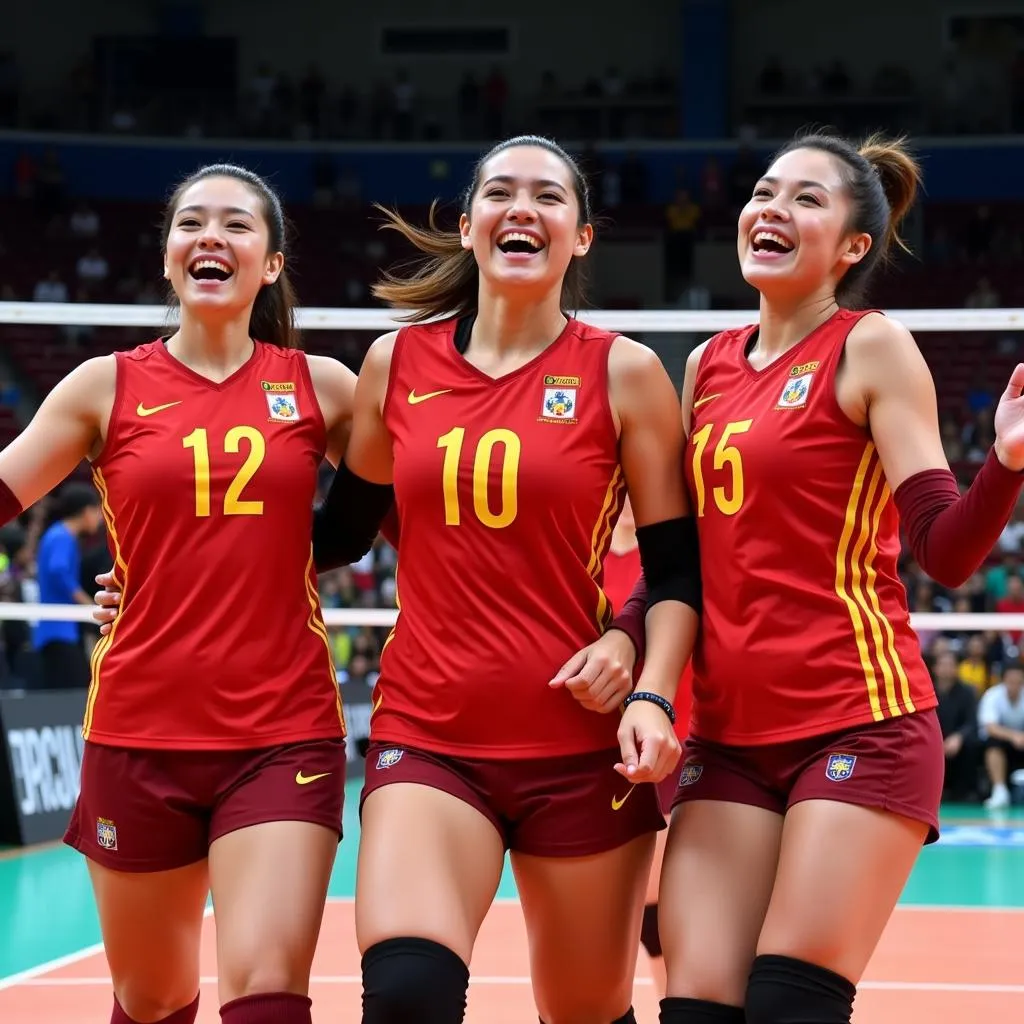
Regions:
<instances>
[{"instance_id":1,"label":"red sleeveless jersey with yellow number 10","mask_svg":"<svg viewBox=\"0 0 1024 1024\"><path fill-rule=\"evenodd\" d=\"M498 759L615 746L617 716L548 686L611 617L602 561L625 494L614 335L570 319L494 379L459 353L455 327L406 328L392 355L399 612L371 737Z\"/></svg>"}]
</instances>

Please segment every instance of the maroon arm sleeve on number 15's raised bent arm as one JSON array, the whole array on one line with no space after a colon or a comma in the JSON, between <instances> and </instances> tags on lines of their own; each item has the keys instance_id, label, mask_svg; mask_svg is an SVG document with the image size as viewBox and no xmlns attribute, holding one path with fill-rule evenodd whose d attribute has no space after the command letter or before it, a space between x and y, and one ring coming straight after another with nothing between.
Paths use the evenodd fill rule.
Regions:
<instances>
[{"instance_id":1,"label":"maroon arm sleeve on number 15's raised bent arm","mask_svg":"<svg viewBox=\"0 0 1024 1024\"><path fill-rule=\"evenodd\" d=\"M1022 483L993 449L964 495L947 469L904 480L893 498L918 564L943 587L962 586L995 547Z\"/></svg>"}]
</instances>

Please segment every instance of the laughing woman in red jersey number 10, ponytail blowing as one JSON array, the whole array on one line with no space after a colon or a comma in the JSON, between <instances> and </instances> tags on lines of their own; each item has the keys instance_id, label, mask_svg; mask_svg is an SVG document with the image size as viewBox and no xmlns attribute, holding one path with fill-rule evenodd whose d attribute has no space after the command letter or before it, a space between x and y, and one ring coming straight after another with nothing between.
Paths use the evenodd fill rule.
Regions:
<instances>
[{"instance_id":1,"label":"laughing woman in red jersey number 10, ponytail blowing","mask_svg":"<svg viewBox=\"0 0 1024 1024\"><path fill-rule=\"evenodd\" d=\"M462 1021L506 850L542 1020L634 1021L664 828L639 783L678 763L698 594L672 382L648 349L562 311L590 219L575 163L534 136L481 159L458 232L391 215L431 258L377 288L416 312L367 355L345 457L368 493L393 481L401 530L361 806L365 1024ZM601 564L627 489L658 599L620 717L596 713L629 692L613 655L586 686L549 682L610 621Z\"/></svg>"}]
</instances>

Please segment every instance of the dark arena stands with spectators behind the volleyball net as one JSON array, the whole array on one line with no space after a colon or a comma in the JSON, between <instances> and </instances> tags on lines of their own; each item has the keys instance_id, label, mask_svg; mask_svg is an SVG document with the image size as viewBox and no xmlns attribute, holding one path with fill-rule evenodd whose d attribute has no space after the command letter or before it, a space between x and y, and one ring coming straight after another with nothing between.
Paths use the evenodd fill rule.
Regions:
<instances>
[{"instance_id":1,"label":"dark arena stands with spectators behind the volleyball net","mask_svg":"<svg viewBox=\"0 0 1024 1024\"><path fill-rule=\"evenodd\" d=\"M593 307L750 310L736 211L773 144L814 124L905 132L922 158L926 193L906 228L913 254L880 281L876 305L1024 306L1022 44L1021 0L8 5L0 302L162 303L161 201L200 164L232 160L284 197L302 304L373 307L378 267L408 252L378 232L370 204L415 219L436 197L451 216L475 158L529 131L556 137L591 176L600 211ZM357 369L375 333L309 332L306 345ZM0 445L78 361L154 334L0 323ZM703 337L639 336L677 382ZM992 440L994 402L1024 357L1021 334L918 338L950 464L967 481ZM0 600L35 599L36 545L51 508L40 502L0 531ZM906 560L912 610L1024 612L1022 544L1018 511L989 563L955 591ZM91 592L106 564L104 539L89 539L84 554ZM394 563L381 543L323 577L325 606L393 607ZM0 689L32 690L31 632L29 623L0 622ZM332 631L356 736L383 635ZM82 636L88 645L90 627ZM923 640L944 666L943 693L955 690L973 708L1017 657L1020 636L935 630ZM980 802L988 783L976 730L965 756L966 781L951 796Z\"/></svg>"}]
</instances>

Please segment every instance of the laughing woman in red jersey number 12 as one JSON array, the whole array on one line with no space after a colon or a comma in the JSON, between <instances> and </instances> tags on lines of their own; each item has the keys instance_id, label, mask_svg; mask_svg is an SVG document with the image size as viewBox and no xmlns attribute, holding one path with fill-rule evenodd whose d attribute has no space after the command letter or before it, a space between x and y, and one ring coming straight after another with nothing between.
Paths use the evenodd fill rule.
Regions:
<instances>
[{"instance_id":1,"label":"laughing woman in red jersey number 12","mask_svg":"<svg viewBox=\"0 0 1024 1024\"><path fill-rule=\"evenodd\" d=\"M163 244L179 329L53 389L0 453L0 521L91 461L122 601L67 842L88 858L113 1024L195 1020L211 891L224 1024L308 1024L345 773L311 507L354 375L297 348L259 177L191 175Z\"/></svg>"}]
</instances>

